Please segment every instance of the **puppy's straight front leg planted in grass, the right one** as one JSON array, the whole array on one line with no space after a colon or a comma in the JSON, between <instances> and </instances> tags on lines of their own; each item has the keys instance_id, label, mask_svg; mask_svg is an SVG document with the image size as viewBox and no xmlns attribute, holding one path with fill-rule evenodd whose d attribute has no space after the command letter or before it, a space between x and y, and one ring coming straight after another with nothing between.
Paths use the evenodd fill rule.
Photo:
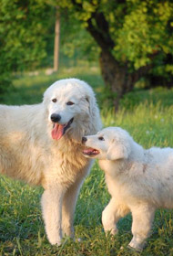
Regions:
<instances>
[{"instance_id":1,"label":"puppy's straight front leg planted in grass, the right one","mask_svg":"<svg viewBox=\"0 0 173 256\"><path fill-rule=\"evenodd\" d=\"M155 208L145 204L131 208L131 211L133 217L133 239L130 241L129 247L132 247L137 251L142 251L145 246L145 240L148 238L152 227Z\"/></svg>"}]
</instances>

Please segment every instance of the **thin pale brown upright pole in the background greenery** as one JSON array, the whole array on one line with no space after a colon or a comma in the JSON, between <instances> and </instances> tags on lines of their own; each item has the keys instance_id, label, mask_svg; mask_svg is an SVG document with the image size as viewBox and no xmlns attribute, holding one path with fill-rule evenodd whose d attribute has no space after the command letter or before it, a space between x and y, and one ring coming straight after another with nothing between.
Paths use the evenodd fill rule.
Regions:
<instances>
[{"instance_id":1,"label":"thin pale brown upright pole in the background greenery","mask_svg":"<svg viewBox=\"0 0 173 256\"><path fill-rule=\"evenodd\" d=\"M56 6L56 25L55 25L55 42L54 42L54 71L58 70L59 66L59 36L60 36L60 15L59 7Z\"/></svg>"}]
</instances>

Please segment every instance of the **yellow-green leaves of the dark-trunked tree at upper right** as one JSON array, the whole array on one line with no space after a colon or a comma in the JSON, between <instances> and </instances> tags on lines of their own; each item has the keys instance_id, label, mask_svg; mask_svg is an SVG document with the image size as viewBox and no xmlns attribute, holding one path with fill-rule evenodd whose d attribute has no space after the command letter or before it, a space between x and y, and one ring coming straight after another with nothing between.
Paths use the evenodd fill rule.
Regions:
<instances>
[{"instance_id":1,"label":"yellow-green leaves of the dark-trunked tree at upper right","mask_svg":"<svg viewBox=\"0 0 173 256\"><path fill-rule=\"evenodd\" d=\"M172 1L62 0L58 5L68 8L84 27L91 23L100 32L102 24L97 24L95 16L103 14L107 33L102 37L113 40L110 49L117 60L129 60L135 69L150 63L153 53L173 53Z\"/></svg>"}]
</instances>

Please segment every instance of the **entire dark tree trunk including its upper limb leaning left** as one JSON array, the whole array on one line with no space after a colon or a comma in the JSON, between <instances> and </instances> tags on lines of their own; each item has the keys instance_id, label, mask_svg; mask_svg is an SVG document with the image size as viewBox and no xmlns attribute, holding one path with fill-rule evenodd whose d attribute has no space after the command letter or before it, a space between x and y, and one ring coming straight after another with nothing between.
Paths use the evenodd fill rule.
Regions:
<instances>
[{"instance_id":1,"label":"entire dark tree trunk including its upper limb leaning left","mask_svg":"<svg viewBox=\"0 0 173 256\"><path fill-rule=\"evenodd\" d=\"M73 0L72 2L77 10L83 10L80 1ZM111 52L114 50L115 41L110 35L107 18L100 10L93 12L87 20L86 30L101 49L99 60L102 77L113 94L114 106L117 110L120 98L128 91L132 91L137 80L148 73L151 65L129 72L128 62L119 62L114 58Z\"/></svg>"}]
</instances>

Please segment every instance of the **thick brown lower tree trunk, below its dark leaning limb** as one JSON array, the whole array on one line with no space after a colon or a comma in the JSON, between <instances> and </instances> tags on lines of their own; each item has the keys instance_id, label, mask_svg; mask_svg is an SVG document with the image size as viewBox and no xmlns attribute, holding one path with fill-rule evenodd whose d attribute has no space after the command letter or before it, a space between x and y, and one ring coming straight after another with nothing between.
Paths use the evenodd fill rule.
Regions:
<instances>
[{"instance_id":1,"label":"thick brown lower tree trunk, below its dark leaning limb","mask_svg":"<svg viewBox=\"0 0 173 256\"><path fill-rule=\"evenodd\" d=\"M137 80L150 69L149 66L146 66L130 73L127 63L119 63L109 51L103 49L100 53L100 68L106 86L115 95L113 103L116 111L122 96L128 91L132 91Z\"/></svg>"}]
</instances>

